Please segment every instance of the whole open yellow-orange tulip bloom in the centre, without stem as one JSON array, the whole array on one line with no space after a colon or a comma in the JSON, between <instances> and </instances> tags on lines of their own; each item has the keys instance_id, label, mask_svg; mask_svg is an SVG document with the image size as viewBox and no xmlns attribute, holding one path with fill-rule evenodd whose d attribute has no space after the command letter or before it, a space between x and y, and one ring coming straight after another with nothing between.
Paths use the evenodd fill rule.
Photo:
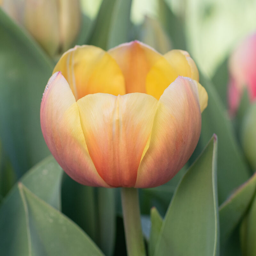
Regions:
<instances>
[{"instance_id":1,"label":"whole open yellow-orange tulip bloom in the centre, without stem","mask_svg":"<svg viewBox=\"0 0 256 256\"><path fill-rule=\"evenodd\" d=\"M41 127L77 182L156 187L194 151L207 100L185 51L161 55L138 41L108 52L76 46L62 55L45 88Z\"/></svg>"}]
</instances>

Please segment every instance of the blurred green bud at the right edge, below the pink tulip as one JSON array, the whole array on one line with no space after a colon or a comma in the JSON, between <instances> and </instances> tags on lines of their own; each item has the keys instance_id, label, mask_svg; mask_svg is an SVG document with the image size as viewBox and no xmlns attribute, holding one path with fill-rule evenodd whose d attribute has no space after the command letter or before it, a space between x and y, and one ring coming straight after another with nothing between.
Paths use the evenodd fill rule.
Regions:
<instances>
[{"instance_id":1,"label":"blurred green bud at the right edge, below the pink tulip","mask_svg":"<svg viewBox=\"0 0 256 256\"><path fill-rule=\"evenodd\" d=\"M244 116L241 140L244 154L256 171L256 103L253 103Z\"/></svg>"}]
</instances>

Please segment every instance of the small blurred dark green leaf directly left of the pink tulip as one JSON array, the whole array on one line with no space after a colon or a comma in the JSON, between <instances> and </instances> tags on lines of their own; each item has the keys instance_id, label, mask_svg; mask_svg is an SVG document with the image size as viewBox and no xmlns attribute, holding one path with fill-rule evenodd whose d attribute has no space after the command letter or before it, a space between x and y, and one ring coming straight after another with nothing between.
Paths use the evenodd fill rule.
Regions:
<instances>
[{"instance_id":1,"label":"small blurred dark green leaf directly left of the pink tulip","mask_svg":"<svg viewBox=\"0 0 256 256\"><path fill-rule=\"evenodd\" d=\"M212 83L218 92L225 108L228 108L228 73L228 58L226 58L216 69L215 74L212 76Z\"/></svg>"}]
</instances>

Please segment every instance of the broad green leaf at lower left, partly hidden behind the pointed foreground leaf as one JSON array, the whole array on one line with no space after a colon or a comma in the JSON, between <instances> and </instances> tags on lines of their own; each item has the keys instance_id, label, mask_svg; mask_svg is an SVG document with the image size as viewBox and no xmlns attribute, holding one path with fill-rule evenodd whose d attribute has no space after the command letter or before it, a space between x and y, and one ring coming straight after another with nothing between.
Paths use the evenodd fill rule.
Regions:
<instances>
[{"instance_id":1,"label":"broad green leaf at lower left, partly hidden behind the pointed foreground leaf","mask_svg":"<svg viewBox=\"0 0 256 256\"><path fill-rule=\"evenodd\" d=\"M52 156L28 171L20 180L36 196L60 209L62 170ZM31 192L31 193L32 193ZM14 239L15 237L15 239ZM0 208L0 248L3 255L29 255L25 210L17 184Z\"/></svg>"}]
</instances>

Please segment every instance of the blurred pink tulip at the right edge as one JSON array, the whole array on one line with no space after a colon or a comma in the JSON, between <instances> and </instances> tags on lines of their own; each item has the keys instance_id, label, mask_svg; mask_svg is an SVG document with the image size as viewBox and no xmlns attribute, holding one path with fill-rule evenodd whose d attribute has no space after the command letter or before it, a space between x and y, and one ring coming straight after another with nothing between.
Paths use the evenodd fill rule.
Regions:
<instances>
[{"instance_id":1,"label":"blurred pink tulip at the right edge","mask_svg":"<svg viewBox=\"0 0 256 256\"><path fill-rule=\"evenodd\" d=\"M229 59L228 84L229 111L233 115L240 103L244 89L250 100L256 99L256 33L247 37Z\"/></svg>"}]
</instances>

